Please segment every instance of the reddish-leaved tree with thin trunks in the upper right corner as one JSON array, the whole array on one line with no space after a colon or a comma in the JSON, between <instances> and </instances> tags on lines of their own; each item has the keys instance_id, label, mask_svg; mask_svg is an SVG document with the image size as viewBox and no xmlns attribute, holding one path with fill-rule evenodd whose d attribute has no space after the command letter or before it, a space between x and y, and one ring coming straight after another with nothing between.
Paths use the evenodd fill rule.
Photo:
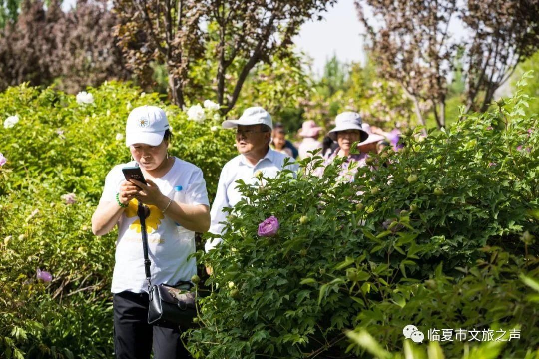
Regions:
<instances>
[{"instance_id":1,"label":"reddish-leaved tree with thin trunks in the upper right corner","mask_svg":"<svg viewBox=\"0 0 539 359\"><path fill-rule=\"evenodd\" d=\"M378 74L399 83L421 124L426 124L425 112L432 111L438 128L446 122L447 78L455 58L462 61L466 109L485 111L495 90L539 46L536 1L355 3ZM461 26L465 36L454 36L452 24Z\"/></svg>"}]
</instances>

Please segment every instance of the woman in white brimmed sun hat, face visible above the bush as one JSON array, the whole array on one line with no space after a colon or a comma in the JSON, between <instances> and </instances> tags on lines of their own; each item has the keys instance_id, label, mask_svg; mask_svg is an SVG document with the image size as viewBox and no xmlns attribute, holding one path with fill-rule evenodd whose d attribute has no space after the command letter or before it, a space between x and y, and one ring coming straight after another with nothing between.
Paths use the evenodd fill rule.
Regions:
<instances>
[{"instance_id":1,"label":"woman in white brimmed sun hat, face visible above the bush","mask_svg":"<svg viewBox=\"0 0 539 359\"><path fill-rule=\"evenodd\" d=\"M365 166L367 153L351 153L354 143L364 141L369 134L362 127L361 116L357 112L342 112L335 117L335 127L331 129L328 136L337 141L338 147L324 161L322 167L316 168L316 174L321 175L324 167L333 162L338 157L345 157L342 164L341 178L344 180L354 180L354 175L358 167Z\"/></svg>"}]
</instances>

